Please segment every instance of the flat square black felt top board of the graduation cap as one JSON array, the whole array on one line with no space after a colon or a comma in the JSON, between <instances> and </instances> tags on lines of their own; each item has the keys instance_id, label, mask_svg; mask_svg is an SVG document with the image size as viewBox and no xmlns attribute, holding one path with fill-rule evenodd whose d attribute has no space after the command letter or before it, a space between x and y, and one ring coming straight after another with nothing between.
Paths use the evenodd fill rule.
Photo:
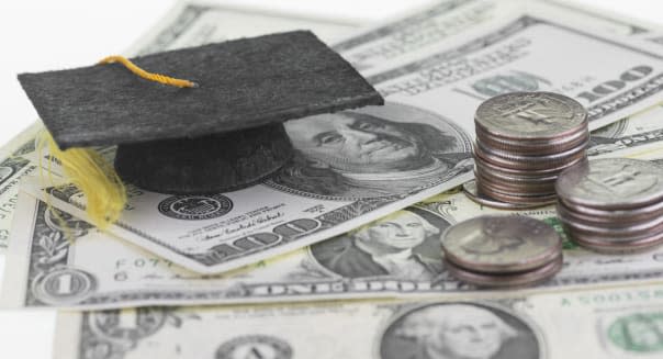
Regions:
<instances>
[{"instance_id":1,"label":"flat square black felt top board of the graduation cap","mask_svg":"<svg viewBox=\"0 0 663 359\"><path fill-rule=\"evenodd\" d=\"M350 64L307 31L132 60L200 87L145 80L120 64L22 74L19 80L61 149L195 138L383 103Z\"/></svg>"}]
</instances>

